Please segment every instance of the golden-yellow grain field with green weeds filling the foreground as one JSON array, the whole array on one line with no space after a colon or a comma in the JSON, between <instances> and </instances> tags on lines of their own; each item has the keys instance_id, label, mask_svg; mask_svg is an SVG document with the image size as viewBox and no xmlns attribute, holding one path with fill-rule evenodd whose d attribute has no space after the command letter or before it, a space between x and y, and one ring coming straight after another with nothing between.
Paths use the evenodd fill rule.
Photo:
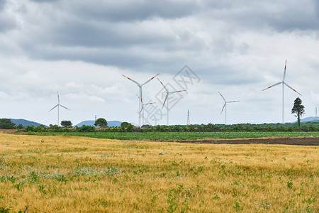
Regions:
<instances>
[{"instance_id":1,"label":"golden-yellow grain field with green weeds filling the foreground","mask_svg":"<svg viewBox=\"0 0 319 213\"><path fill-rule=\"evenodd\" d=\"M315 146L0 133L2 212L318 212Z\"/></svg>"}]
</instances>

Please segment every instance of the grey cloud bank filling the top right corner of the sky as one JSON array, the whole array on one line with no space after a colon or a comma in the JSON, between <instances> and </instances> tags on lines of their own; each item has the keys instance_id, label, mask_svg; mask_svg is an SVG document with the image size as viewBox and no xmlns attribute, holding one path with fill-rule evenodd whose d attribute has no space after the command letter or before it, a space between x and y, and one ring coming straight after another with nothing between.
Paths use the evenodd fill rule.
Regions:
<instances>
[{"instance_id":1,"label":"grey cloud bank filling the top right corner of the sky","mask_svg":"<svg viewBox=\"0 0 319 213\"><path fill-rule=\"evenodd\" d=\"M207 3L211 18L230 21L234 28L307 31L319 27L319 3L310 1L217 1Z\"/></svg>"}]
</instances>

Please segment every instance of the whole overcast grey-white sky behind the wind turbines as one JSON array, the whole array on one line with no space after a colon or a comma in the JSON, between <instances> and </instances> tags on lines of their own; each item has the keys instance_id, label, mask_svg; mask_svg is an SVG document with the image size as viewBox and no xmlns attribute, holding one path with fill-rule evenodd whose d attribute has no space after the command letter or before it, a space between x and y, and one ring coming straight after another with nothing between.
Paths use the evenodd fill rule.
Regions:
<instances>
[{"instance_id":1,"label":"whole overcast grey-white sky behind the wind turbines","mask_svg":"<svg viewBox=\"0 0 319 213\"><path fill-rule=\"evenodd\" d=\"M169 124L281 122L281 82L319 107L319 3L281 1L0 0L1 116L41 124L103 117L138 124L138 87L157 75ZM187 65L186 69L182 68ZM181 71L181 72L180 72ZM189 73L189 77L185 75ZM182 82L184 79L184 82ZM152 125L166 124L162 85L142 87ZM285 88L285 121L296 92ZM158 121L154 121L158 119ZM156 123L155 123L156 122Z\"/></svg>"}]
</instances>

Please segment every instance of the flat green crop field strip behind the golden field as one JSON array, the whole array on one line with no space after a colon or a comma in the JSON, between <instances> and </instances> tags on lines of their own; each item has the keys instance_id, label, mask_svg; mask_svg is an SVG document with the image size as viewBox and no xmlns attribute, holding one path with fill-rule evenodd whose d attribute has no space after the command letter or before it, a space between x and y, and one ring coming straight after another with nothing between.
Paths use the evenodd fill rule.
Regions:
<instances>
[{"instance_id":1,"label":"flat green crop field strip behind the golden field","mask_svg":"<svg viewBox=\"0 0 319 213\"><path fill-rule=\"evenodd\" d=\"M265 138L265 137L318 137L319 132L43 132L31 133L47 136L84 136L90 138L108 138L118 140L196 140L196 139L234 139L234 138Z\"/></svg>"}]
</instances>

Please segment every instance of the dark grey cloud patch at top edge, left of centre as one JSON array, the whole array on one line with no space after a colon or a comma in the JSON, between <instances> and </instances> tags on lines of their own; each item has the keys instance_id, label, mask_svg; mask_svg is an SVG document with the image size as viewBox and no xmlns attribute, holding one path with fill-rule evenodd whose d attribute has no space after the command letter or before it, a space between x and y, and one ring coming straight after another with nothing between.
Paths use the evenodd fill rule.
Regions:
<instances>
[{"instance_id":1,"label":"dark grey cloud patch at top edge, left of centre","mask_svg":"<svg viewBox=\"0 0 319 213\"><path fill-rule=\"evenodd\" d=\"M194 1L73 1L69 9L86 18L110 21L142 21L149 18L180 18L199 9Z\"/></svg>"}]
</instances>

